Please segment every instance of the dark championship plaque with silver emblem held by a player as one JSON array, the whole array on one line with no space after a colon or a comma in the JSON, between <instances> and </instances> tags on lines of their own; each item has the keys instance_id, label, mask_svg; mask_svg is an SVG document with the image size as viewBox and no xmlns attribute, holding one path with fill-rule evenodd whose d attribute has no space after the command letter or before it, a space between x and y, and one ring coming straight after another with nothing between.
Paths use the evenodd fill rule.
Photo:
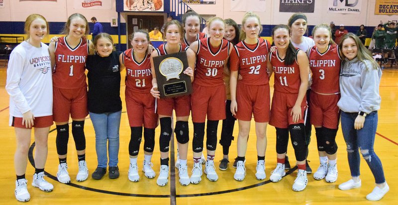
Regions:
<instances>
[{"instance_id":1,"label":"dark championship plaque with silver emblem held by a player","mask_svg":"<svg viewBox=\"0 0 398 205\"><path fill-rule=\"evenodd\" d=\"M153 64L160 98L191 94L191 77L183 73L189 66L187 52L153 57Z\"/></svg>"}]
</instances>

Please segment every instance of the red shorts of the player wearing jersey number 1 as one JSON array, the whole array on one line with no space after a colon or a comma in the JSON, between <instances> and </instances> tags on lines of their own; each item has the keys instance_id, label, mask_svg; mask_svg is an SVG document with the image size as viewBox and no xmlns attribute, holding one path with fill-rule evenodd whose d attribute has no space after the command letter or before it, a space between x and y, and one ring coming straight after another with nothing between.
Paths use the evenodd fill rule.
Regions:
<instances>
[{"instance_id":1,"label":"red shorts of the player wearing jersey number 1","mask_svg":"<svg viewBox=\"0 0 398 205\"><path fill-rule=\"evenodd\" d=\"M53 87L53 115L56 122L85 118L88 114L87 87L60 89Z\"/></svg>"}]
</instances>

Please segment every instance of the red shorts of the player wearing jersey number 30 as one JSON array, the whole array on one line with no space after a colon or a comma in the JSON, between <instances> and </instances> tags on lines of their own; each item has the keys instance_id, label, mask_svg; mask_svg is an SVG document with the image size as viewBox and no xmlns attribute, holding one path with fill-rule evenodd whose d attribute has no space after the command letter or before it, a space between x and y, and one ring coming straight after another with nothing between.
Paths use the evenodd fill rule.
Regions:
<instances>
[{"instance_id":1,"label":"red shorts of the player wearing jersey number 30","mask_svg":"<svg viewBox=\"0 0 398 205\"><path fill-rule=\"evenodd\" d=\"M225 86L222 84L216 87L204 87L194 84L192 86L191 106L192 121L204 122L208 120L225 119L226 93Z\"/></svg>"}]
</instances>

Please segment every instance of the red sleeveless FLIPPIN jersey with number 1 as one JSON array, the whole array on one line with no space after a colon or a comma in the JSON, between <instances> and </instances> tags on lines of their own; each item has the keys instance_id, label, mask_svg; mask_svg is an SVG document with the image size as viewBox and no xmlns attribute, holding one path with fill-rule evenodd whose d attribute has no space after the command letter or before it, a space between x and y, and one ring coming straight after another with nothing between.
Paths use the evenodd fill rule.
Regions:
<instances>
[{"instance_id":1,"label":"red sleeveless FLIPPIN jersey with number 1","mask_svg":"<svg viewBox=\"0 0 398 205\"><path fill-rule=\"evenodd\" d=\"M85 38L80 39L79 45L71 48L65 37L55 42L55 69L53 86L61 89L76 89L86 84L86 59L89 46Z\"/></svg>"}]
</instances>

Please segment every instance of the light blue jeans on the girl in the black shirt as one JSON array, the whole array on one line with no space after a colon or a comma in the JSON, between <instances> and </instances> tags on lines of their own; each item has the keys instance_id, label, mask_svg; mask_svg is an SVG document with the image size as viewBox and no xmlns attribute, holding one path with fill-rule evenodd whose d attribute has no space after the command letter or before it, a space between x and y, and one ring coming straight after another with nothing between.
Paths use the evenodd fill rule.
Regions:
<instances>
[{"instance_id":1,"label":"light blue jeans on the girl in the black shirt","mask_svg":"<svg viewBox=\"0 0 398 205\"><path fill-rule=\"evenodd\" d=\"M119 127L121 110L117 112L93 113L90 118L96 132L98 167L106 168L108 162L106 142L109 140L109 167L116 167L119 154Z\"/></svg>"}]
</instances>

